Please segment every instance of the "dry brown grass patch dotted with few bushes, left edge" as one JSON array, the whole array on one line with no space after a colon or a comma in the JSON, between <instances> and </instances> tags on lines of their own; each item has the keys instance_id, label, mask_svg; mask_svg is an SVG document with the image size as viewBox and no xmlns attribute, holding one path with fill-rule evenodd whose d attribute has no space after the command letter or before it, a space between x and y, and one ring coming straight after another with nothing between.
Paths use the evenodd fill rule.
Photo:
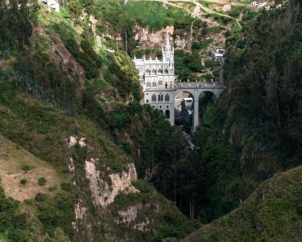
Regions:
<instances>
[{"instance_id":1,"label":"dry brown grass patch dotted with few bushes, left edge","mask_svg":"<svg viewBox=\"0 0 302 242\"><path fill-rule=\"evenodd\" d=\"M27 171L25 166L30 170ZM3 136L0 136L0 167L2 187L17 201L33 199L37 193L49 194L49 187L60 185L60 178L49 164ZM46 178L46 185L38 185L40 177ZM21 179L26 179L26 184L20 184Z\"/></svg>"}]
</instances>

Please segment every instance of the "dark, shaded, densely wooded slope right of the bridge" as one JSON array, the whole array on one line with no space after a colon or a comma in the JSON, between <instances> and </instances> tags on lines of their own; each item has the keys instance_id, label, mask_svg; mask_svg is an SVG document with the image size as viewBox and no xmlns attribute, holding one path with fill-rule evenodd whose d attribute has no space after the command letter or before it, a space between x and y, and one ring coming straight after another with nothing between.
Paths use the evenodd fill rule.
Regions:
<instances>
[{"instance_id":1,"label":"dark, shaded, densely wooded slope right of the bridge","mask_svg":"<svg viewBox=\"0 0 302 242\"><path fill-rule=\"evenodd\" d=\"M182 206L202 222L232 211L262 180L301 164L302 17L297 5L291 1L282 10L261 11L244 25L244 40L230 36L229 89L203 111L194 136L198 148L166 169L178 206L188 192L191 204L182 200Z\"/></svg>"}]
</instances>

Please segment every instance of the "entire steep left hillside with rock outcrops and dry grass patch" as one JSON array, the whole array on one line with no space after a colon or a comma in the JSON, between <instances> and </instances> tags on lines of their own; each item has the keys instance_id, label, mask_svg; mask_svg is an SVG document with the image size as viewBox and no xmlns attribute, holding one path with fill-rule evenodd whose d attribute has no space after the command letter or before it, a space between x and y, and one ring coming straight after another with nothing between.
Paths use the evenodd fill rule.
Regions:
<instances>
[{"instance_id":1,"label":"entire steep left hillside with rock outcrops and dry grass patch","mask_svg":"<svg viewBox=\"0 0 302 242\"><path fill-rule=\"evenodd\" d=\"M1 16L18 14L14 4ZM181 131L139 104L130 57L98 48L89 23L75 26L64 9L24 8L31 18L12 24L26 35L10 38L17 30L1 19L0 233L8 241L161 241L196 230L143 181L146 168L185 149L158 150Z\"/></svg>"}]
</instances>

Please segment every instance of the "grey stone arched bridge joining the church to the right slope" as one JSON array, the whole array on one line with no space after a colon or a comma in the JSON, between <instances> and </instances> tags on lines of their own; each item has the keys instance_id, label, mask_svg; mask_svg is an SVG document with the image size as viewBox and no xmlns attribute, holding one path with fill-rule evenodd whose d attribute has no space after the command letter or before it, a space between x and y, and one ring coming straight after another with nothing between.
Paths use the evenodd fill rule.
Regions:
<instances>
[{"instance_id":1,"label":"grey stone arched bridge joining the church to the right slope","mask_svg":"<svg viewBox=\"0 0 302 242\"><path fill-rule=\"evenodd\" d=\"M196 131L198 126L198 99L199 95L204 92L211 92L215 99L219 98L220 93L225 89L222 82L176 82L174 84L174 99L180 92L186 92L193 96L193 117L192 117L192 133ZM173 120L174 123L174 120Z\"/></svg>"}]
</instances>

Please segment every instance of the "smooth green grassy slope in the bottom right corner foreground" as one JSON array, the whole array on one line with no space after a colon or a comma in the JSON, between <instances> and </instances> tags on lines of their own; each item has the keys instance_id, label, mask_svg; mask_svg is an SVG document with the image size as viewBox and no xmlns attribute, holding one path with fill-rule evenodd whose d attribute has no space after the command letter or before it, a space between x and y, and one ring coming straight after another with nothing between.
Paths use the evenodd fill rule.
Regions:
<instances>
[{"instance_id":1,"label":"smooth green grassy slope in the bottom right corner foreground","mask_svg":"<svg viewBox=\"0 0 302 242\"><path fill-rule=\"evenodd\" d=\"M301 241L302 166L276 174L236 210L184 241Z\"/></svg>"}]
</instances>

